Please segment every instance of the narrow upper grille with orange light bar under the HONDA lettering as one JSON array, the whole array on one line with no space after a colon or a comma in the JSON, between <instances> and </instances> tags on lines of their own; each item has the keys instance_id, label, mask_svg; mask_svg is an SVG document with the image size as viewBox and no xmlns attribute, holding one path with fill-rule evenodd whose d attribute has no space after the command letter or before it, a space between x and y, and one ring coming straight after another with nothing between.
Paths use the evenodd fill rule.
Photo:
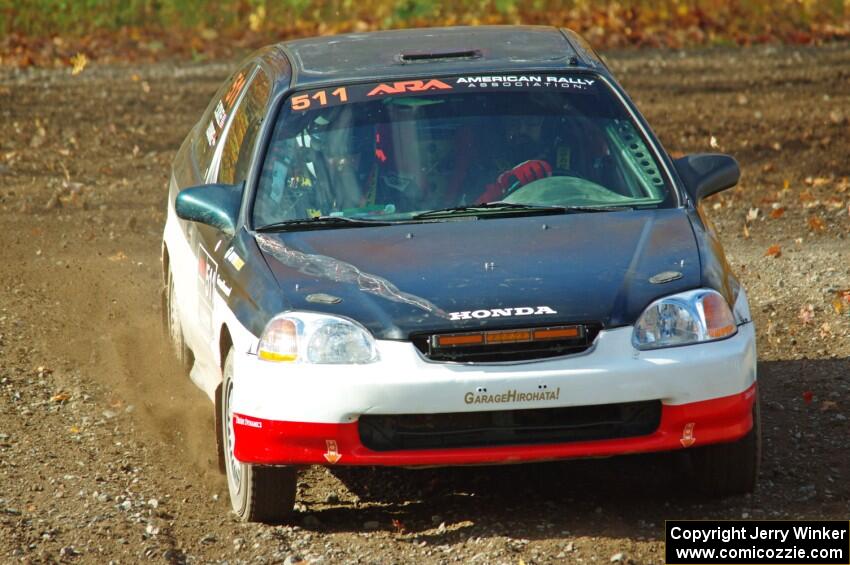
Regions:
<instances>
[{"instance_id":1,"label":"narrow upper grille with orange light bar under the HONDA lettering","mask_svg":"<svg viewBox=\"0 0 850 565\"><path fill-rule=\"evenodd\" d=\"M482 333L499 336L504 334L516 334L527 332L534 335L537 332L556 330L551 327L541 328L512 328L500 330L487 330L483 332L466 332L461 334L419 334L411 336L411 341L422 354L432 361L445 361L456 363L493 363L500 361L529 361L533 359L545 359L547 357L560 357L573 353L586 351L593 344L601 328L600 324L587 323L572 326L559 326L558 328L575 328L579 331L576 337L561 339L542 339L525 341L499 341L490 343L489 337L483 343L473 345L454 345L451 347L440 347L441 339L446 337L457 338L480 336Z\"/></svg>"}]
</instances>

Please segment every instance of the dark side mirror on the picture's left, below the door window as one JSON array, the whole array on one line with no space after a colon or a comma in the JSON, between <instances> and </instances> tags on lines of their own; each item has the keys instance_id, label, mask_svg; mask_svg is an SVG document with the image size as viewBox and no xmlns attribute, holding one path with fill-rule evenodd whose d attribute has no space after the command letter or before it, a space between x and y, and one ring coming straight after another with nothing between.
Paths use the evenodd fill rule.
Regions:
<instances>
[{"instance_id":1,"label":"dark side mirror on the picture's left, below the door window","mask_svg":"<svg viewBox=\"0 0 850 565\"><path fill-rule=\"evenodd\" d=\"M241 184L205 184L181 190L174 211L182 220L206 224L232 236L242 202L241 188Z\"/></svg>"}]
</instances>

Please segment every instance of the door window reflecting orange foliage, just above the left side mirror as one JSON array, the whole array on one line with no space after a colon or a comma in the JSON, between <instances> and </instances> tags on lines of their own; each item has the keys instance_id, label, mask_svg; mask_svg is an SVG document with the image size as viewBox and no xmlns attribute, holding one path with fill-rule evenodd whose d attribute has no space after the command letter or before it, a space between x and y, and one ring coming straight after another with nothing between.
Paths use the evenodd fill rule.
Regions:
<instances>
[{"instance_id":1,"label":"door window reflecting orange foliage, just above the left side mirror","mask_svg":"<svg viewBox=\"0 0 850 565\"><path fill-rule=\"evenodd\" d=\"M251 155L257 142L260 124L266 113L271 83L259 69L245 95L236 107L236 113L227 126L224 147L218 169L218 182L236 184L245 180L251 165Z\"/></svg>"}]
</instances>

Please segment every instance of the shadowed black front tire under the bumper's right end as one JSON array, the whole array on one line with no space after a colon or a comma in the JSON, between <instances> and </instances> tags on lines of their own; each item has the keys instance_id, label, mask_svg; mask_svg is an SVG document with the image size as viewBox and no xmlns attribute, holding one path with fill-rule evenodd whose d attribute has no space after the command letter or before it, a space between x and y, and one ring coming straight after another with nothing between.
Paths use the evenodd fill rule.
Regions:
<instances>
[{"instance_id":1,"label":"shadowed black front tire under the bumper's right end","mask_svg":"<svg viewBox=\"0 0 850 565\"><path fill-rule=\"evenodd\" d=\"M688 452L691 485L703 495L724 497L751 493L761 466L761 409L753 403L753 427L738 441L699 447Z\"/></svg>"}]
</instances>

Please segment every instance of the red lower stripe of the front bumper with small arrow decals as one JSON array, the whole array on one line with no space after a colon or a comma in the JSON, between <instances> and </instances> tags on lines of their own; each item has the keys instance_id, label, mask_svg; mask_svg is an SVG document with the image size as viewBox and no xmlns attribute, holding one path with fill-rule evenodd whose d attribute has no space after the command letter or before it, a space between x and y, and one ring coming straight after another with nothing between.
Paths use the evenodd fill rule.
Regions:
<instances>
[{"instance_id":1,"label":"red lower stripe of the front bumper with small arrow decals","mask_svg":"<svg viewBox=\"0 0 850 565\"><path fill-rule=\"evenodd\" d=\"M641 437L547 445L511 445L372 451L360 442L357 422L314 424L234 415L236 458L260 465L470 465L515 463L668 451L734 441L753 425L756 385L723 398L664 405L661 424Z\"/></svg>"}]
</instances>

